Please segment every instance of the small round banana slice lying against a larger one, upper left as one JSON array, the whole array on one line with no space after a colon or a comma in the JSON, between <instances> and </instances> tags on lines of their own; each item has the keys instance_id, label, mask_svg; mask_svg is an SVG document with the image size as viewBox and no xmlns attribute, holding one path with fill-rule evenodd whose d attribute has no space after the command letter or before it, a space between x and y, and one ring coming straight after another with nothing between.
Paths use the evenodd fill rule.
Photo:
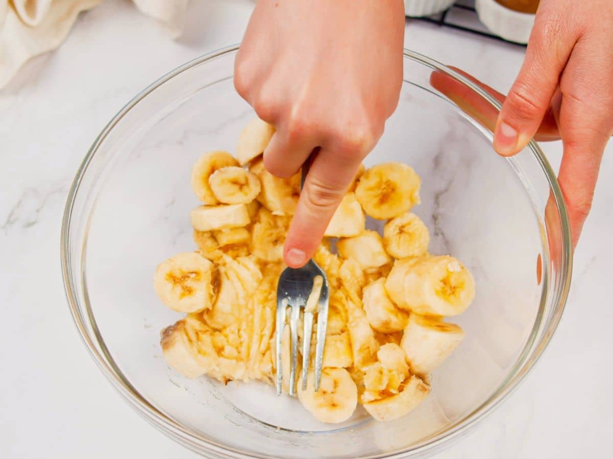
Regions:
<instances>
[{"instance_id":1,"label":"small round banana slice lying against a larger one, upper left","mask_svg":"<svg viewBox=\"0 0 613 459\"><path fill-rule=\"evenodd\" d=\"M227 166L208 177L208 185L220 203L247 204L260 192L256 174L242 167Z\"/></svg>"}]
</instances>

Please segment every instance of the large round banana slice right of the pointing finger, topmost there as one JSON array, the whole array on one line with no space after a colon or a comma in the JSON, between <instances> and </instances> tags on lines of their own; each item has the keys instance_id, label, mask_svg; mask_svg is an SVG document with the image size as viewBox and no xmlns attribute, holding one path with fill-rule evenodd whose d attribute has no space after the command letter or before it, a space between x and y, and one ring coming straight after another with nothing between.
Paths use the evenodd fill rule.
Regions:
<instances>
[{"instance_id":1,"label":"large round banana slice right of the pointing finger, topmost there","mask_svg":"<svg viewBox=\"0 0 613 459\"><path fill-rule=\"evenodd\" d=\"M357 200L372 218L387 220L419 204L421 180L403 163L383 163L368 169L356 187Z\"/></svg>"}]
</instances>

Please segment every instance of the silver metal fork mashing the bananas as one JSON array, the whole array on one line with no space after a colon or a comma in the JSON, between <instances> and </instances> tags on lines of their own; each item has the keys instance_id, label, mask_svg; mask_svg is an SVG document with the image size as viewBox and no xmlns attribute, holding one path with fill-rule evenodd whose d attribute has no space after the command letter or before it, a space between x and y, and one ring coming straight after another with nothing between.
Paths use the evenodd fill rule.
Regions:
<instances>
[{"instance_id":1,"label":"silver metal fork mashing the bananas","mask_svg":"<svg viewBox=\"0 0 613 459\"><path fill-rule=\"evenodd\" d=\"M310 159L302 166L300 190L308 174ZM317 279L321 276L321 281ZM317 292L318 281L321 290ZM315 287L315 288L314 288ZM326 327L328 324L329 288L326 273L317 263L310 259L305 266L298 269L286 267L279 277L276 288L276 393L281 395L283 370L281 362L281 341L286 325L286 310L291 308L289 316L289 334L291 337L291 369L289 371L289 395L294 395L296 363L298 360L298 321L300 309L304 309L304 333L302 341L302 390L307 389L307 375L311 353L311 334L313 332L313 315L318 313L317 340L315 346L315 392L319 390L321 367L326 344ZM307 304L310 306L307 308ZM311 307L312 306L312 307Z\"/></svg>"}]
</instances>

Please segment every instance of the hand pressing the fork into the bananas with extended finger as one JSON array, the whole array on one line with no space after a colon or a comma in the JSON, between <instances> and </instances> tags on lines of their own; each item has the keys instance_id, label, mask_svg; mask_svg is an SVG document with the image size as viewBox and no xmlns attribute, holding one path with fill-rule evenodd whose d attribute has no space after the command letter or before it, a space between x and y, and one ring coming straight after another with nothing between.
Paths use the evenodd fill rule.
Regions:
<instances>
[{"instance_id":1,"label":"hand pressing the fork into the bananas with extended finger","mask_svg":"<svg viewBox=\"0 0 613 459\"><path fill-rule=\"evenodd\" d=\"M287 234L288 266L311 258L398 104L403 12L402 0L259 0L251 15L234 85L275 125L264 164L289 177L315 151Z\"/></svg>"}]
</instances>

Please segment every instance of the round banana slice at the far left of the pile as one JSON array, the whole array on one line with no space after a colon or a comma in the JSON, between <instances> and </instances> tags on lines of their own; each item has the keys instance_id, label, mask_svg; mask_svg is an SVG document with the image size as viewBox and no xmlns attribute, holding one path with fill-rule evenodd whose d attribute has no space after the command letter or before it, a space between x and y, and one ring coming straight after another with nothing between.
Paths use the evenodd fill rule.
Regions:
<instances>
[{"instance_id":1,"label":"round banana slice at the far left of the pile","mask_svg":"<svg viewBox=\"0 0 613 459\"><path fill-rule=\"evenodd\" d=\"M159 299L172 310L197 312L211 307L213 264L196 252L178 253L162 261L153 276Z\"/></svg>"}]
</instances>

